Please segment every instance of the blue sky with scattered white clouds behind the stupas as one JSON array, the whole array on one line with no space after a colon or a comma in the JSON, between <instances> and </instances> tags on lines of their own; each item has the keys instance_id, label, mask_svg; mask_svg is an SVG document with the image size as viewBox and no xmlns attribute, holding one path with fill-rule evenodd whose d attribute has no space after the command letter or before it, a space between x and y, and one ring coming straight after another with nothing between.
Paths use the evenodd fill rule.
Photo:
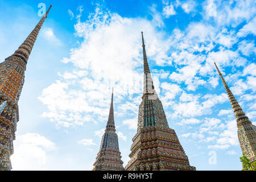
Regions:
<instances>
[{"instance_id":1,"label":"blue sky with scattered white clouds behind the stupas","mask_svg":"<svg viewBox=\"0 0 256 182\"><path fill-rule=\"evenodd\" d=\"M0 56L52 9L27 64L13 169L90 170L114 117L124 166L142 96L141 31L167 121L197 170L241 170L232 107L255 125L255 1L0 1ZM216 160L214 160L216 159Z\"/></svg>"}]
</instances>

